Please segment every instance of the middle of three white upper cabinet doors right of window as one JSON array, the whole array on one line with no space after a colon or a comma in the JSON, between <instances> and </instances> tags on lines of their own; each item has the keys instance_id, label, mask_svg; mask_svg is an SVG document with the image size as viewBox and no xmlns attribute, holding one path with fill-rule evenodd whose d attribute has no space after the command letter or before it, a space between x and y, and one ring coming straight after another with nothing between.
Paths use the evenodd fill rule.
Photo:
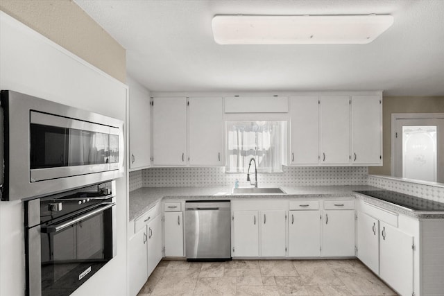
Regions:
<instances>
[{"instance_id":1,"label":"middle of three white upper cabinet doors right of window","mask_svg":"<svg viewBox=\"0 0 444 296\"><path fill-rule=\"evenodd\" d=\"M350 97L321 97L321 164L350 164Z\"/></svg>"}]
</instances>

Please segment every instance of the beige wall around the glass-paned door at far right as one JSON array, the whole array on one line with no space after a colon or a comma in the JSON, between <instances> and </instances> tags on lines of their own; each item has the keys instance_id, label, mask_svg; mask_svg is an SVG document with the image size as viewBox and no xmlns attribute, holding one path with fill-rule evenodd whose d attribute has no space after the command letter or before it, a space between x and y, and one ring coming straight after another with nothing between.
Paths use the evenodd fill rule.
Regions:
<instances>
[{"instance_id":1,"label":"beige wall around the glass-paned door at far right","mask_svg":"<svg viewBox=\"0 0 444 296\"><path fill-rule=\"evenodd\" d=\"M384 166L369 167L370 175L391 175L391 114L443 113L444 96L384 96L382 101L382 153Z\"/></svg>"}]
</instances>

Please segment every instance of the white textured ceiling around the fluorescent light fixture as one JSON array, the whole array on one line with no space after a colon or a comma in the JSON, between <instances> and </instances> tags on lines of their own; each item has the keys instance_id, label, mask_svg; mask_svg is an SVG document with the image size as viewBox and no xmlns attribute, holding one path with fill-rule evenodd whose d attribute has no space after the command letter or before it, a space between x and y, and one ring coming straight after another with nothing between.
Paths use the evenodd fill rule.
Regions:
<instances>
[{"instance_id":1,"label":"white textured ceiling around the fluorescent light fixture","mask_svg":"<svg viewBox=\"0 0 444 296\"><path fill-rule=\"evenodd\" d=\"M444 1L75 0L126 48L152 91L384 90L444 95ZM214 15L391 14L370 44L219 45Z\"/></svg>"}]
</instances>

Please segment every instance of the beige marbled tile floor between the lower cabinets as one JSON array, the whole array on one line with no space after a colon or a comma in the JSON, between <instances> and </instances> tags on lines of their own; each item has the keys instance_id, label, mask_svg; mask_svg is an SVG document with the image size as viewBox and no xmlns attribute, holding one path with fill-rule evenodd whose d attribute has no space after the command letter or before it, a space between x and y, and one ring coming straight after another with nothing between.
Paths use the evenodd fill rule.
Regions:
<instances>
[{"instance_id":1,"label":"beige marbled tile floor between the lower cabinets","mask_svg":"<svg viewBox=\"0 0 444 296\"><path fill-rule=\"evenodd\" d=\"M138 296L397 295L358 260L161 261Z\"/></svg>"}]
</instances>

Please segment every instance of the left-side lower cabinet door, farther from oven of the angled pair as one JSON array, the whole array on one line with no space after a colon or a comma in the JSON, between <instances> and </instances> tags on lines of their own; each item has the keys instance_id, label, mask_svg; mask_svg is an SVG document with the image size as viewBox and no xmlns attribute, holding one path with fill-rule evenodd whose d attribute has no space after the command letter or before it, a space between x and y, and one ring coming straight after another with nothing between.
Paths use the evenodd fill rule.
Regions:
<instances>
[{"instance_id":1,"label":"left-side lower cabinet door, farther from oven of the angled pair","mask_svg":"<svg viewBox=\"0 0 444 296\"><path fill-rule=\"evenodd\" d=\"M147 227L148 276L162 259L162 220L157 215Z\"/></svg>"}]
</instances>

